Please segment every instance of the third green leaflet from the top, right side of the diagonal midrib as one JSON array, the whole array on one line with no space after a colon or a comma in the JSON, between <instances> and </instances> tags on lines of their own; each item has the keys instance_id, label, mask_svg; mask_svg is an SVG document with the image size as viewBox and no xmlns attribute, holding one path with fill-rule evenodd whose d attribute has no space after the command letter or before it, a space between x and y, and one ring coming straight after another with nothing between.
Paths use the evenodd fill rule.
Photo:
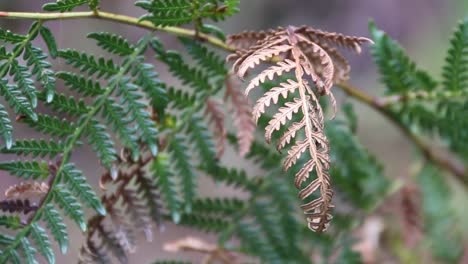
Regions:
<instances>
[{"instance_id":1,"label":"third green leaflet from the top, right side of the diagonal midrib","mask_svg":"<svg viewBox=\"0 0 468 264\"><path fill-rule=\"evenodd\" d=\"M125 109L109 98L104 103L102 115L106 119L107 124L112 127L112 131L115 131L121 143L131 150L132 159L137 160L139 145L136 137L136 128L132 128L131 120L125 116Z\"/></svg>"}]
</instances>

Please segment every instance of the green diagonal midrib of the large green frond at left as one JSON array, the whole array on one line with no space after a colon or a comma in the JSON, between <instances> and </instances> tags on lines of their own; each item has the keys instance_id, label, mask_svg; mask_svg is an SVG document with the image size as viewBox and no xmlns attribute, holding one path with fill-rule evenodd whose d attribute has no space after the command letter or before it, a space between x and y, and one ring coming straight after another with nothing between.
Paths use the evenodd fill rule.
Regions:
<instances>
[{"instance_id":1,"label":"green diagonal midrib of the large green frond at left","mask_svg":"<svg viewBox=\"0 0 468 264\"><path fill-rule=\"evenodd\" d=\"M137 56L140 54L142 49L146 46L146 44L150 41L150 37L147 36L144 41L141 42L140 47L135 49L135 51L129 56L129 59L127 62L120 68L119 72L115 75L114 81L111 82L105 92L96 100L94 103L93 107L89 110L89 112L86 114L84 119L80 122L80 125L75 129L71 137L67 140L66 146L63 150L62 153L62 161L60 163L60 166L57 169L56 172L56 177L53 178L49 185L49 192L46 194L44 199L42 200L41 204L48 204L51 199L53 198L53 189L57 184L60 183L60 177L59 175L62 173L65 165L67 164L68 160L70 159L71 153L76 145L76 143L79 141L81 138L81 134L85 130L86 126L88 123L92 120L92 118L100 111L101 107L104 105L107 97L109 97L112 92L115 90L117 85L119 84L120 80L125 76L129 68L131 67L132 63L134 63L135 59ZM18 245L21 243L21 240L23 237L27 236L29 232L31 231L32 224L36 223L39 221L39 218L41 217L42 211L44 210L45 207L38 208L37 211L34 213L34 216L30 218L30 221L28 225L26 225L16 236L15 240L4 249L4 252L10 252L11 250L14 250L15 248L18 247ZM0 256L0 263L5 263L6 260L8 259L9 254L2 254Z\"/></svg>"}]
</instances>

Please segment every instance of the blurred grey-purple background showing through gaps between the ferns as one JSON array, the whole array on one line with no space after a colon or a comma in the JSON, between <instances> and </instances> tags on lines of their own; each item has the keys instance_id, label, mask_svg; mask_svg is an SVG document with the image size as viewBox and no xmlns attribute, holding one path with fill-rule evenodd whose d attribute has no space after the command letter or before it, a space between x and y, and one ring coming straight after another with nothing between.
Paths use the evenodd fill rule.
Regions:
<instances>
[{"instance_id":1,"label":"blurred grey-purple background showing through gaps between the ferns","mask_svg":"<svg viewBox=\"0 0 468 264\"><path fill-rule=\"evenodd\" d=\"M39 11L41 5L47 1L31 0L0 0L1 11ZM101 0L102 10L122 13L130 16L142 14L141 10L133 6L134 1ZM373 19L377 26L386 31L394 39L398 40L408 51L408 54L419 65L440 76L441 65L447 50L448 38L457 21L468 16L468 1L466 0L242 0L241 12L234 17L222 22L219 26L226 33L237 33L243 30L262 30L277 26L307 24L326 31L337 31L349 35L368 36L367 23ZM26 20L0 20L2 28L8 28L15 32L25 33L31 21ZM86 39L90 31L111 31L122 34L131 40L142 36L144 30L134 27L115 24L100 20L70 20L51 21L47 26L55 32L59 48L76 48L91 52L100 52L92 41ZM174 42L171 36L161 33L161 38L166 43ZM169 46L169 45L168 45ZM99 55L99 54L98 54ZM382 85L377 80L376 68L372 63L368 49L360 56L348 56L352 66L351 83L370 94L380 95ZM64 65L55 65L59 70ZM157 70L159 70L157 68ZM168 80L164 75L165 69L161 69L161 78ZM338 95L339 102L345 98ZM388 177L405 177L409 171L412 150L409 142L404 139L399 131L373 110L360 105L355 105L358 114L358 135L365 146L385 164ZM32 131L26 126L16 126L16 138L33 137ZM0 156L0 161L8 160L7 155ZM88 179L97 182L102 173L96 158L92 152L82 147L73 154L73 159L84 169ZM240 159L233 151L228 151L223 158L227 163L238 162ZM248 166L248 164L246 165ZM16 182L0 172L0 189ZM96 186L96 185L95 185ZM223 186L217 186L211 181L202 179L199 185L203 195L216 196L226 194ZM3 194L0 194L0 198ZM67 256L58 256L58 263L75 262L78 250L81 246L82 236L74 224L68 225L71 232L71 245ZM171 225L167 225L162 233L155 233L152 243L143 242L140 239L137 252L131 255L130 263L149 263L156 258L173 257L162 250L161 238L174 240L186 235L196 235L206 238L208 241L216 241L213 236L197 234ZM188 254L195 260L201 257L197 254Z\"/></svg>"}]
</instances>

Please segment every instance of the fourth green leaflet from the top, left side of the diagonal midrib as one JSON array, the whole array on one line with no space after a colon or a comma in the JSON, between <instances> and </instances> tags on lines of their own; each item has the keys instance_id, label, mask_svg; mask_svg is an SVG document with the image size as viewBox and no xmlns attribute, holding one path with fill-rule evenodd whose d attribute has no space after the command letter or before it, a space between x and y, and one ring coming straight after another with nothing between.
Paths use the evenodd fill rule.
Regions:
<instances>
[{"instance_id":1,"label":"fourth green leaflet from the top, left side of the diagonal midrib","mask_svg":"<svg viewBox=\"0 0 468 264\"><path fill-rule=\"evenodd\" d=\"M39 99L46 101L46 94L40 93ZM75 99L73 96L68 97L64 94L55 94L54 100L46 105L56 112L67 113L70 116L81 116L89 111L83 99Z\"/></svg>"}]
</instances>

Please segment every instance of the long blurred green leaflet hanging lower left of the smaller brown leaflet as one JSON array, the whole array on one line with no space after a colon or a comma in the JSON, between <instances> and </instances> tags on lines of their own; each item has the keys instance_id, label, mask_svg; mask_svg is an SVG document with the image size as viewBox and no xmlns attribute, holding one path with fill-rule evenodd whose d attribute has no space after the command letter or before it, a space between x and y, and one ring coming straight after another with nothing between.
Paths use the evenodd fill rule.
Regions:
<instances>
[{"instance_id":1,"label":"long blurred green leaflet hanging lower left of the smaller brown leaflet","mask_svg":"<svg viewBox=\"0 0 468 264\"><path fill-rule=\"evenodd\" d=\"M173 137L169 143L168 151L171 154L171 163L174 164L173 168L181 178L184 211L190 213L192 211L192 200L196 195L197 175L190 161L184 138L177 135Z\"/></svg>"}]
</instances>

